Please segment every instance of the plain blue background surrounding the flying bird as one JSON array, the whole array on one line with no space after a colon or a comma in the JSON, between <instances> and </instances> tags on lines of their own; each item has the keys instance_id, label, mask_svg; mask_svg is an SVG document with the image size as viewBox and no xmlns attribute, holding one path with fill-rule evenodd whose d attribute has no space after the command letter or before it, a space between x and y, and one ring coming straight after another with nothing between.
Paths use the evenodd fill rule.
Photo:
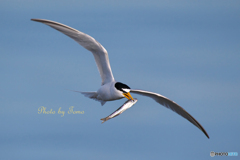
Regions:
<instances>
[{"instance_id":1,"label":"plain blue background surrounding the flying bird","mask_svg":"<svg viewBox=\"0 0 240 160\"><path fill-rule=\"evenodd\" d=\"M101 106L66 90L99 88L93 56L31 18L97 39L116 80L174 100L210 139L138 95L131 109L101 124L126 100ZM210 151L240 153L239 0L3 0L0 20L0 159L202 160L211 159ZM41 106L74 106L84 114L38 114Z\"/></svg>"}]
</instances>

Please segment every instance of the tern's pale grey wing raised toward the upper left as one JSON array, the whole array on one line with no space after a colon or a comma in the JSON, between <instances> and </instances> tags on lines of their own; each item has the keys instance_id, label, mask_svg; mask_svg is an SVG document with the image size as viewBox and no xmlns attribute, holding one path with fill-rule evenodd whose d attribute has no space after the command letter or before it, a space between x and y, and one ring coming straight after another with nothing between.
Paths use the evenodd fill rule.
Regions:
<instances>
[{"instance_id":1,"label":"tern's pale grey wing raised toward the upper left","mask_svg":"<svg viewBox=\"0 0 240 160\"><path fill-rule=\"evenodd\" d=\"M69 36L70 38L78 42L81 46L91 51L93 53L93 56L97 63L98 70L100 72L100 76L102 78L102 85L114 80L109 63L107 50L93 37L58 22L46 19L31 19L31 20L44 23L64 33L65 35Z\"/></svg>"}]
</instances>

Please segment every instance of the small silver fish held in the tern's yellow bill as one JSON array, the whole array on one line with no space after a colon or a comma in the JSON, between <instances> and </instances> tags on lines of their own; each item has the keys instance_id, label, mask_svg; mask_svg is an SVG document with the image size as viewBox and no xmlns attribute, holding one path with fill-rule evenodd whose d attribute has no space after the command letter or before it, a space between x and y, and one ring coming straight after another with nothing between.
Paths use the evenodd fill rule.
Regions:
<instances>
[{"instance_id":1,"label":"small silver fish held in the tern's yellow bill","mask_svg":"<svg viewBox=\"0 0 240 160\"><path fill-rule=\"evenodd\" d=\"M112 114L110 114L109 116L107 116L106 118L102 118L102 123L104 123L105 121L114 118L120 114L122 114L124 111L126 111L127 109L131 108L135 103L137 103L137 99L134 98L133 100L127 100L121 107L119 107L116 111L114 111Z\"/></svg>"}]
</instances>

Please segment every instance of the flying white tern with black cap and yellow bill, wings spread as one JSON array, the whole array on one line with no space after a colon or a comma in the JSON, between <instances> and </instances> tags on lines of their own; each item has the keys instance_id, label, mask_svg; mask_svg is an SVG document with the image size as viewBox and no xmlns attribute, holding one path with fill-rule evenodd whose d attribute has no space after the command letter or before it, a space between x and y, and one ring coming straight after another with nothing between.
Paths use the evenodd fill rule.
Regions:
<instances>
[{"instance_id":1,"label":"flying white tern with black cap and yellow bill, wings spread","mask_svg":"<svg viewBox=\"0 0 240 160\"><path fill-rule=\"evenodd\" d=\"M63 34L69 36L77 43L79 43L81 46L92 52L98 67L98 71L102 78L102 84L101 87L96 92L81 92L86 97L97 100L101 102L102 105L104 105L107 101L114 101L124 97L126 97L128 100L134 101L130 92L142 96L147 96L154 99L157 103L171 109L172 111L178 113L179 115L187 119L189 122L198 127L209 138L207 132L201 126L201 124L174 101L158 93L131 89L128 85L115 81L109 63L108 52L93 37L58 22L46 19L31 19L31 20L44 23L62 32Z\"/></svg>"}]
</instances>

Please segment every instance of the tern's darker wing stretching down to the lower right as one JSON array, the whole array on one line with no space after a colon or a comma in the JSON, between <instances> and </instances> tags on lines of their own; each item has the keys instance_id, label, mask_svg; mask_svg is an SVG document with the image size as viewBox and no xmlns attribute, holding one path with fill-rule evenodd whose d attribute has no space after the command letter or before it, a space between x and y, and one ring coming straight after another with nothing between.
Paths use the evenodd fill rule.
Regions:
<instances>
[{"instance_id":1,"label":"tern's darker wing stretching down to the lower right","mask_svg":"<svg viewBox=\"0 0 240 160\"><path fill-rule=\"evenodd\" d=\"M167 97L164 97L158 93L153 93L153 92L149 92L149 91L131 89L130 92L140 94L142 96L147 96L147 97L154 99L159 104L171 109L172 111L174 111L177 114L181 115L182 117L186 118L189 122L191 122L196 127L198 127L209 138L207 132L201 126L201 124L174 101L172 101L172 100L168 99Z\"/></svg>"}]
</instances>

